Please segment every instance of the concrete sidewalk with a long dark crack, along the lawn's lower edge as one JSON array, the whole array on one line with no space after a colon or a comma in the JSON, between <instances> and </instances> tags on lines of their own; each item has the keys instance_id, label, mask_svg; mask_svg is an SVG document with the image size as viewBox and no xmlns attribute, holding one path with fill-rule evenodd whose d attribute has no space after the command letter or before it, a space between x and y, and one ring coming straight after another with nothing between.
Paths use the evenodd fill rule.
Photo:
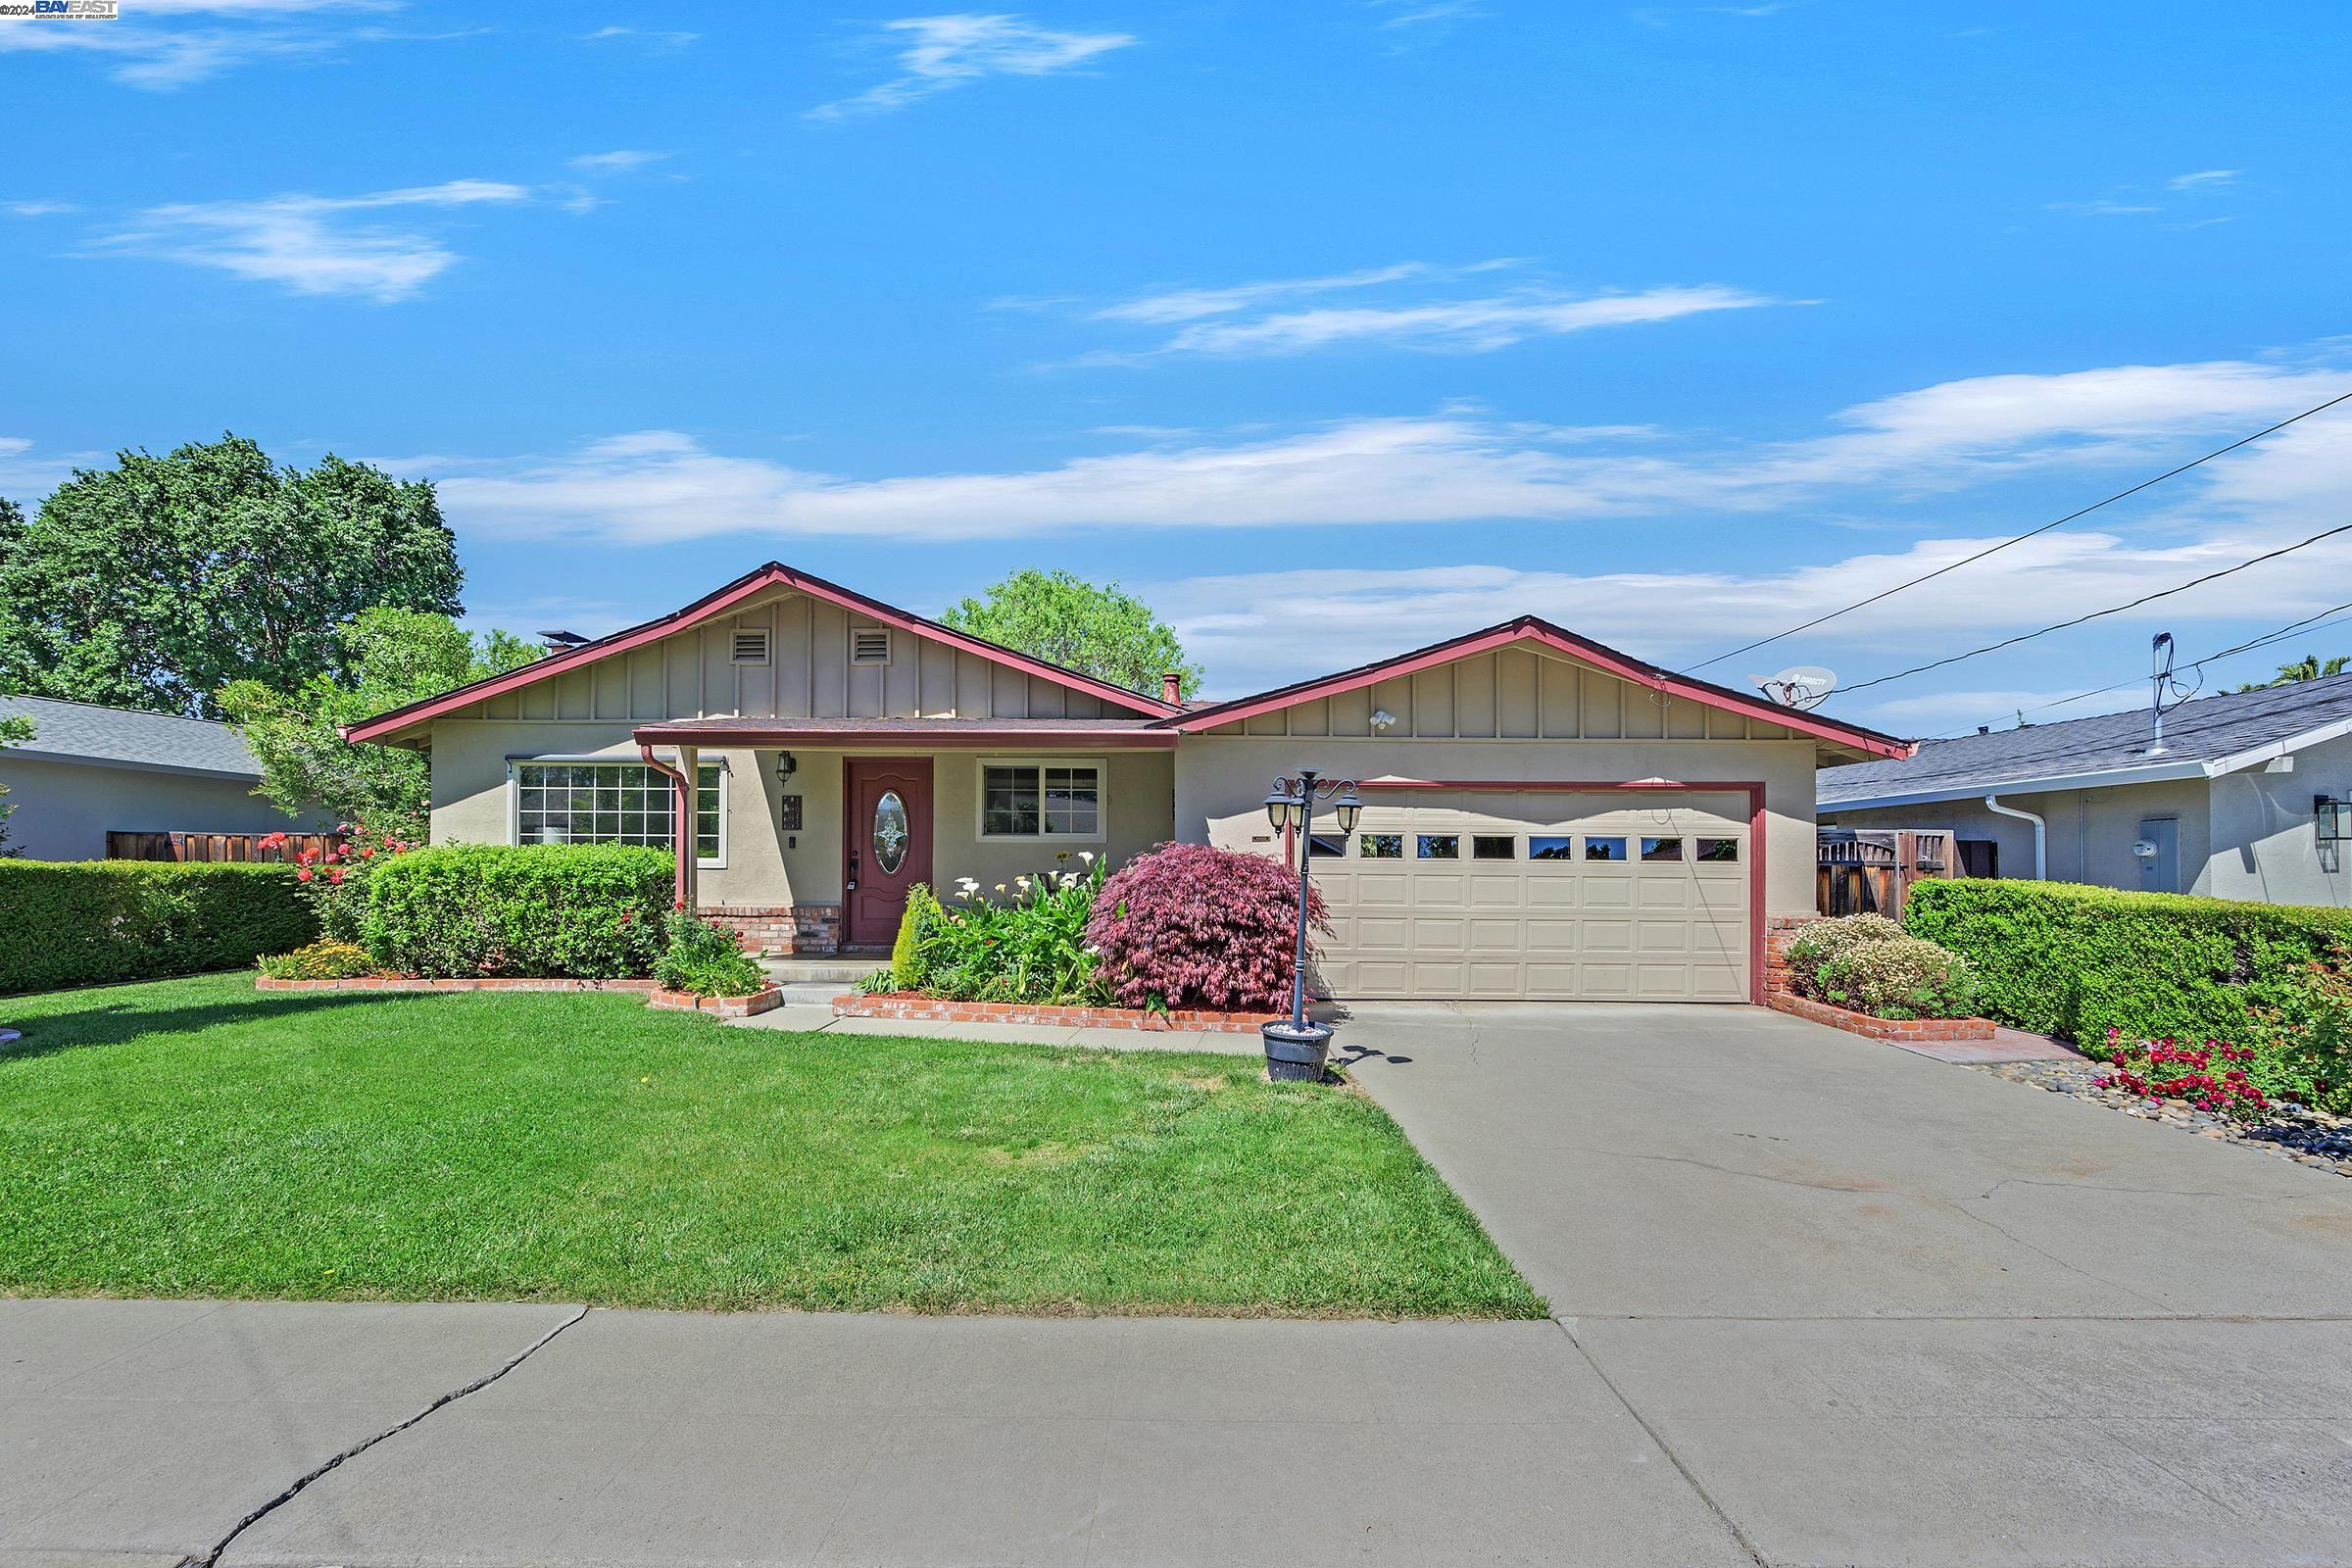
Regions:
<instances>
[{"instance_id":1,"label":"concrete sidewalk with a long dark crack, along the lawn's lower edge","mask_svg":"<svg viewBox=\"0 0 2352 1568\"><path fill-rule=\"evenodd\" d=\"M0 1302L0 1561L1738 1568L1557 1324Z\"/></svg>"}]
</instances>

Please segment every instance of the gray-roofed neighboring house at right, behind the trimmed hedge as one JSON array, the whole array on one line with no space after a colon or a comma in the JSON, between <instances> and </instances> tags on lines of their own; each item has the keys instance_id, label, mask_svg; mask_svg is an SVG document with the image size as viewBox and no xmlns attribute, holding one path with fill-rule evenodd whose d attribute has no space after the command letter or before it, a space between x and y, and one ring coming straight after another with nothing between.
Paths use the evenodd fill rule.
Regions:
<instances>
[{"instance_id":1,"label":"gray-roofed neighboring house at right, behind the trimmed hedge","mask_svg":"<svg viewBox=\"0 0 2352 1568\"><path fill-rule=\"evenodd\" d=\"M2352 675L2183 703L2161 750L2143 708L1929 741L1818 783L1823 823L1950 827L1976 875L2310 905L2352 903L2319 804L2347 795Z\"/></svg>"}]
</instances>

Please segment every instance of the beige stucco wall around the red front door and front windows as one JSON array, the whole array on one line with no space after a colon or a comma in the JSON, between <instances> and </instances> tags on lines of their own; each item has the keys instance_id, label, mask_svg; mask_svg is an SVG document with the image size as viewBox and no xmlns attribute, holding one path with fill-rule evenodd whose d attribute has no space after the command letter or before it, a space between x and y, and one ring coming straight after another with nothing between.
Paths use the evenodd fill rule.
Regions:
<instances>
[{"instance_id":1,"label":"beige stucco wall around the red front door and front windows","mask_svg":"<svg viewBox=\"0 0 2352 1568\"><path fill-rule=\"evenodd\" d=\"M659 757L675 762L670 748ZM837 903L842 896L842 759L851 752L793 748L797 769L776 783L776 750L713 748L701 762L727 769L724 867L699 872L701 903L793 905ZM868 748L856 755L903 757L908 748ZM1023 752L943 750L931 766L931 875L953 886L957 877L983 884L1011 882L1021 872L1051 870L1054 851L1094 851L1112 860L1171 837L1174 757L1169 752L1056 750L1056 759L1098 762L1105 788L1105 835L1101 842L1004 842L981 839L978 776L983 757ZM1044 757L1047 752L1033 752ZM510 724L492 719L442 719L433 726L433 842L506 844L510 757L612 757L637 762L630 724ZM802 827L786 835L783 795L802 797ZM1263 795L1263 788L1261 788Z\"/></svg>"}]
</instances>

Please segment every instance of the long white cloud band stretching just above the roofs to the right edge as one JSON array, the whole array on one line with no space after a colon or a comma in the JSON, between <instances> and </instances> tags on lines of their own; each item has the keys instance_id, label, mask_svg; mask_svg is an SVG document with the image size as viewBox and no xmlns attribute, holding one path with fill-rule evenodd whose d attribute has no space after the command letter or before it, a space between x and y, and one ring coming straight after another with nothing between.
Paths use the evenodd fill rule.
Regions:
<instances>
[{"instance_id":1,"label":"long white cloud band stretching just above the roofs to the right edge","mask_svg":"<svg viewBox=\"0 0 2352 1568\"><path fill-rule=\"evenodd\" d=\"M2241 435L2345 386L2345 374L2256 362L1978 376L1865 402L1837 414L1828 433L1764 444L1444 411L1279 435L1145 440L1009 473L849 480L708 451L675 430L557 456L412 458L402 468L442 477L452 517L468 527L626 541L1766 515L1856 489L1943 494L2060 463L2112 470L2187 456L2190 437ZM2303 442L2272 440L2281 444L2199 470L2213 489L2197 494L2300 520L2326 508L2331 484L2340 494L2352 480L2345 437L2312 430Z\"/></svg>"}]
</instances>

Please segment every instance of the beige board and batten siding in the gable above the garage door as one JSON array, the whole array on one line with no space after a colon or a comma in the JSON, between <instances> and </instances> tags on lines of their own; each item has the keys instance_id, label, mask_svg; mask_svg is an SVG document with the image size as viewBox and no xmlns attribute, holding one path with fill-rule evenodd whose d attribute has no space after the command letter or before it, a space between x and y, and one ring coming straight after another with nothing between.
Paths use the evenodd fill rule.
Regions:
<instances>
[{"instance_id":1,"label":"beige board and batten siding in the gable above the garage door","mask_svg":"<svg viewBox=\"0 0 2352 1568\"><path fill-rule=\"evenodd\" d=\"M1371 726L1374 712L1397 722ZM1383 741L1795 741L1748 715L1675 701L1628 679L1534 649L1472 654L1315 698L1211 736L1364 736Z\"/></svg>"}]
</instances>

